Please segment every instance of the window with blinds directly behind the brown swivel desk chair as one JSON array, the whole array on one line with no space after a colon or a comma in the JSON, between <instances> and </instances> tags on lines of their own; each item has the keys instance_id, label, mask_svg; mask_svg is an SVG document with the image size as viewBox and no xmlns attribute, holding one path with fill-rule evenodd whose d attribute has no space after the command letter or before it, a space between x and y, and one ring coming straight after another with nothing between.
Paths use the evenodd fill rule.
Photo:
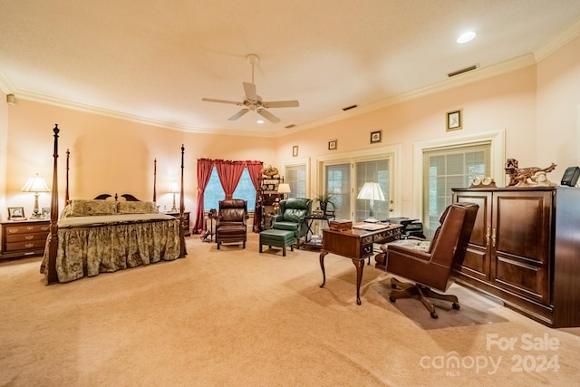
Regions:
<instances>
[{"instance_id":1,"label":"window with blinds directly behind the brown swivel desk chair","mask_svg":"<svg viewBox=\"0 0 580 387\"><path fill-rule=\"evenodd\" d=\"M451 204L451 189L469 187L474 178L491 175L490 152L490 143L424 151L423 219L430 236Z\"/></svg>"}]
</instances>

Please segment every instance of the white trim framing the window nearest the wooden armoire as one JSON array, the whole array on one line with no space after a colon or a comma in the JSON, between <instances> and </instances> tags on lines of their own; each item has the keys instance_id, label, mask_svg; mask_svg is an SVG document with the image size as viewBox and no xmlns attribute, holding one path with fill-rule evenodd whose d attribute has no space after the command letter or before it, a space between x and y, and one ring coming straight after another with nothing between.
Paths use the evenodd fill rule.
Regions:
<instances>
[{"instance_id":1,"label":"white trim framing the window nearest the wooden armoire","mask_svg":"<svg viewBox=\"0 0 580 387\"><path fill-rule=\"evenodd\" d=\"M480 142L491 142L490 169L491 176L498 187L505 186L506 170L506 131L488 131L452 139L437 139L415 142L413 144L413 215L412 218L423 218L423 152L445 147L469 146ZM459 187L458 187L459 188Z\"/></svg>"}]
</instances>

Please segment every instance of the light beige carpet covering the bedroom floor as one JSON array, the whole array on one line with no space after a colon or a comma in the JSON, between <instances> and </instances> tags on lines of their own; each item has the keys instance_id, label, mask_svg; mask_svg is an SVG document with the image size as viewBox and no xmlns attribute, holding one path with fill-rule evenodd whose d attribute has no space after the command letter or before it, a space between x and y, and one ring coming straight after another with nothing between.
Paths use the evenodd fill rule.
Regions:
<instances>
[{"instance_id":1,"label":"light beige carpet covering the bedroom floor","mask_svg":"<svg viewBox=\"0 0 580 387\"><path fill-rule=\"evenodd\" d=\"M351 260L326 256L320 288L317 252L259 254L248 236L219 251L193 236L184 259L69 284L44 285L40 257L0 264L0 385L577 385L580 328L459 285L461 309L433 320L391 304L373 266L359 306Z\"/></svg>"}]
</instances>

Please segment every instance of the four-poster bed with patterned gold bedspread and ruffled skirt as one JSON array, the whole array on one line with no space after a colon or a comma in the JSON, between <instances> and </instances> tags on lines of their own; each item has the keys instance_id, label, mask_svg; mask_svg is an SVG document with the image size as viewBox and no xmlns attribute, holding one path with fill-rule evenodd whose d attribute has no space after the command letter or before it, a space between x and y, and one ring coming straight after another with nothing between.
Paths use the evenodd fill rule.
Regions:
<instances>
[{"instance_id":1,"label":"four-poster bed with patterned gold bedspread and ruffled skirt","mask_svg":"<svg viewBox=\"0 0 580 387\"><path fill-rule=\"evenodd\" d=\"M51 227L41 265L48 285L186 256L185 232L181 227L184 217L183 145L179 218L160 213L155 204L157 160L154 161L153 201L140 201L131 194L121 195L121 198L117 194L114 198L103 194L92 200L69 199L68 150L65 207L59 213L59 131L55 125Z\"/></svg>"}]
</instances>

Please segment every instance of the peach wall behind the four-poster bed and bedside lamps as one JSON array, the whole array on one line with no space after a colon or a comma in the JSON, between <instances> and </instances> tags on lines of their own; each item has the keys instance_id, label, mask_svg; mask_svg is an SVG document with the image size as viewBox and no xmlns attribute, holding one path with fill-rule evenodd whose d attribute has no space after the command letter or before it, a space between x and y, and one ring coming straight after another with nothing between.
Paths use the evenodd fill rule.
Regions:
<instances>
[{"instance_id":1,"label":"peach wall behind the four-poster bed and bedside lamps","mask_svg":"<svg viewBox=\"0 0 580 387\"><path fill-rule=\"evenodd\" d=\"M131 193L150 200L153 194L153 160L157 159L157 198L170 208L167 193L180 179L181 144L185 145L185 207L195 213L198 158L275 160L271 139L208 135L173 131L48 104L19 100L9 108L5 198L7 207L24 206L32 212L32 194L21 192L26 179L40 173L52 184L53 127L58 123L59 196L63 206L66 150L70 149L71 198L93 198L101 193ZM178 197L179 199L179 197ZM178 202L179 205L179 202ZM50 194L42 194L39 207L50 207ZM5 212L5 208L2 208ZM5 218L6 214L3 214Z\"/></svg>"}]
</instances>

